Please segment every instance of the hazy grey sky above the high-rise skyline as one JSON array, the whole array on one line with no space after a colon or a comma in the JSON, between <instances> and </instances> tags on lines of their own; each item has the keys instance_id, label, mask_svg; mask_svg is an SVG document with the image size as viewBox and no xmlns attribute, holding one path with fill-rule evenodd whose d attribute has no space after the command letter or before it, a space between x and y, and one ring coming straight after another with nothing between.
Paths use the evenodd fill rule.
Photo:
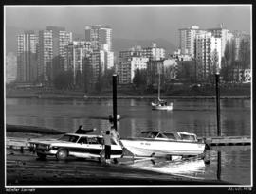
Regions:
<instances>
[{"instance_id":1,"label":"hazy grey sky above the high-rise skyline","mask_svg":"<svg viewBox=\"0 0 256 194\"><path fill-rule=\"evenodd\" d=\"M250 32L250 7L237 6L49 6L6 7L6 26L44 29L64 26L83 34L84 26L102 24L113 28L114 38L163 38L178 43L178 29L224 26Z\"/></svg>"}]
</instances>

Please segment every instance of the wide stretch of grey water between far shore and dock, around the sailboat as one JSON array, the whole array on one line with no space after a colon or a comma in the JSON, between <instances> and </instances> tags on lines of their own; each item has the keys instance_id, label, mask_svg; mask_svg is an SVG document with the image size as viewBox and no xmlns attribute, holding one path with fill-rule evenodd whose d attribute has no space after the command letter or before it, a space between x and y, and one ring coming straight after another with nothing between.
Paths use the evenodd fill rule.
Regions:
<instances>
[{"instance_id":1,"label":"wide stretch of grey water between far shore and dock, around the sailboat","mask_svg":"<svg viewBox=\"0 0 256 194\"><path fill-rule=\"evenodd\" d=\"M53 100L53 99L7 99L7 122L9 124L35 125L62 129L68 132L80 124L109 127L105 121L90 119L91 116L112 115L110 99ZM175 100L172 112L152 111L150 100L120 99L118 114L122 135L135 135L141 130L196 132L198 136L216 134L215 101ZM250 134L250 101L222 100L221 129L224 135ZM192 111L191 111L192 110ZM203 111L202 111L203 110ZM136 129L136 130L135 130ZM137 132L135 132L137 131Z\"/></svg>"}]
</instances>

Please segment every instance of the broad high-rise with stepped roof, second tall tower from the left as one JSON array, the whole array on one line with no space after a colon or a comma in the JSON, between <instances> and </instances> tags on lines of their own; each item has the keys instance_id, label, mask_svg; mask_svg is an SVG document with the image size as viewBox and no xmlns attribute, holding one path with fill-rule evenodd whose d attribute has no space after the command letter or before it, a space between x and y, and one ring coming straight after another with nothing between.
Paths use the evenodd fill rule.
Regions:
<instances>
[{"instance_id":1,"label":"broad high-rise with stepped roof, second tall tower from the left","mask_svg":"<svg viewBox=\"0 0 256 194\"><path fill-rule=\"evenodd\" d=\"M39 31L38 73L41 80L53 80L64 70L64 47L72 41L72 33L64 27L47 26Z\"/></svg>"}]
</instances>

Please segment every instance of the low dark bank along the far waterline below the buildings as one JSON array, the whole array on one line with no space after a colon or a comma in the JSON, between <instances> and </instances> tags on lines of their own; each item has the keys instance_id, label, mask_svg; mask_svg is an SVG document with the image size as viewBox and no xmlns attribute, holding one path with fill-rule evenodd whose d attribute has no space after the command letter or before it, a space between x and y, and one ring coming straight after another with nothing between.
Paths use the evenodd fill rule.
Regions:
<instances>
[{"instance_id":1,"label":"low dark bank along the far waterline below the buildings","mask_svg":"<svg viewBox=\"0 0 256 194\"><path fill-rule=\"evenodd\" d=\"M241 95L240 95L241 94ZM250 99L248 91L221 91L222 99ZM6 98L39 98L39 99L112 99L112 91L105 91L101 94L84 94L82 91L63 91L63 90L13 90L6 91ZM156 99L157 93L142 93L141 91L119 91L119 99ZM202 91L180 91L175 94L162 94L162 99L214 99L215 93L203 93Z\"/></svg>"}]
</instances>

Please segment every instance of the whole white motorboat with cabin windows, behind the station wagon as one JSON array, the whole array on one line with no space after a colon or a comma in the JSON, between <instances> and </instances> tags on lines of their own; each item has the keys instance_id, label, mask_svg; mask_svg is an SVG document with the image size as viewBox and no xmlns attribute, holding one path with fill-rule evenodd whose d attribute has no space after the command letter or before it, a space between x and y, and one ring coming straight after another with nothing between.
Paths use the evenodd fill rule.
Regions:
<instances>
[{"instance_id":1,"label":"whole white motorboat with cabin windows, behind the station wagon","mask_svg":"<svg viewBox=\"0 0 256 194\"><path fill-rule=\"evenodd\" d=\"M135 156L196 156L205 150L205 143L199 142L188 132L141 132L140 137L120 139L124 148Z\"/></svg>"}]
</instances>

